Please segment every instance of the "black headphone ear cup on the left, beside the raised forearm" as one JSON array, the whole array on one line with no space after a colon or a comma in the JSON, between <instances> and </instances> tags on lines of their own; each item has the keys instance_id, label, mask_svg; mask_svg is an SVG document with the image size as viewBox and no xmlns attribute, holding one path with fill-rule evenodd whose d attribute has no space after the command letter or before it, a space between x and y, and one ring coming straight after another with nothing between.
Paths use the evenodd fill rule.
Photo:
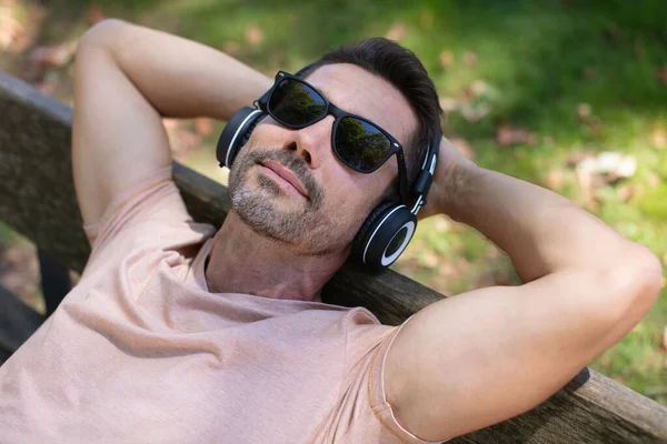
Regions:
<instances>
[{"instance_id":1,"label":"black headphone ear cup on the left, beside the raised forearm","mask_svg":"<svg viewBox=\"0 0 667 444\"><path fill-rule=\"evenodd\" d=\"M243 107L233 113L218 139L216 157L220 167L231 167L239 150L248 142L252 130L263 115L261 110L250 107Z\"/></svg>"}]
</instances>

